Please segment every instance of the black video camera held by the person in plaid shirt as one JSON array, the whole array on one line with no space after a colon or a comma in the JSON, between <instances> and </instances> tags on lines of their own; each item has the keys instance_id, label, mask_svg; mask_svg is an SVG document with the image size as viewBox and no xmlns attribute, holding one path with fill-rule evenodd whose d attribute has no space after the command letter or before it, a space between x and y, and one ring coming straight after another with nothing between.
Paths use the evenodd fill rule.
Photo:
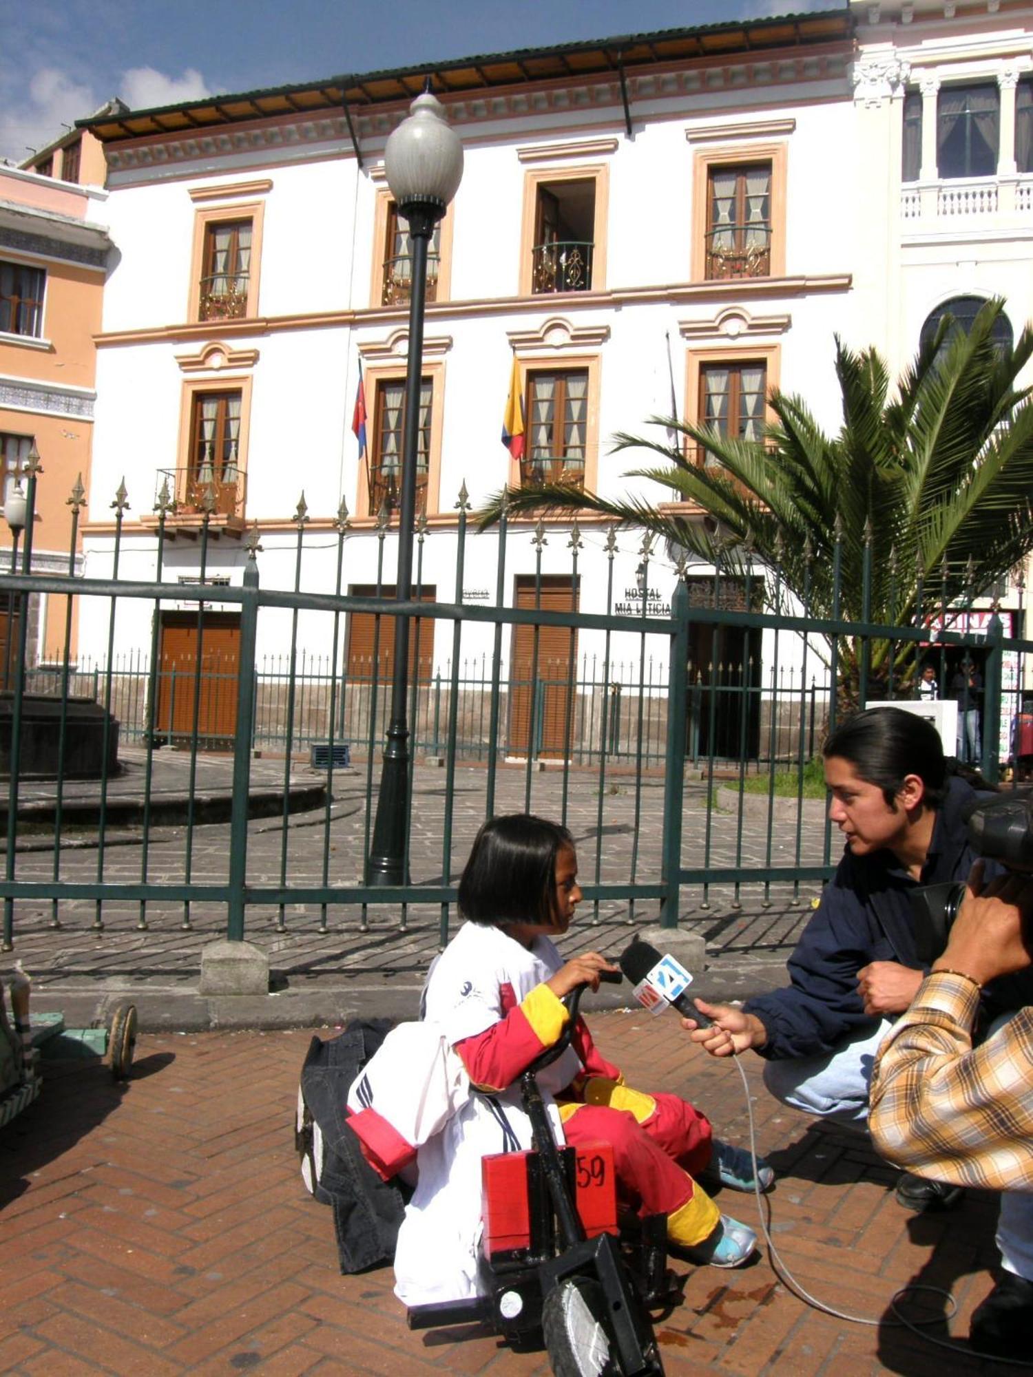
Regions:
<instances>
[{"instance_id":1,"label":"black video camera held by the person in plaid shirt","mask_svg":"<svg viewBox=\"0 0 1033 1377\"><path fill-rule=\"evenodd\" d=\"M1033 793L1023 790L979 799L970 808L967 822L977 855L1000 861L1005 870L1033 874ZM915 945L923 965L942 954L964 896L963 880L927 884L912 895L917 920Z\"/></svg>"}]
</instances>

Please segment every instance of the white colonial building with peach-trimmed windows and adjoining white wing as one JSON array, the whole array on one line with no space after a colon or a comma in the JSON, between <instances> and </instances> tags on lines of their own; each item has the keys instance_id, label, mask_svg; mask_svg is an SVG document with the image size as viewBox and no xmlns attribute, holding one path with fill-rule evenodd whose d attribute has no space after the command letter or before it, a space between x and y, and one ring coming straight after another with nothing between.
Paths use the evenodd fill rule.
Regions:
<instances>
[{"instance_id":1,"label":"white colonial building with peach-trimmed windows and adjoining white wing","mask_svg":"<svg viewBox=\"0 0 1033 1377\"><path fill-rule=\"evenodd\" d=\"M466 169L432 244L424 336L420 508L424 596L456 600L457 512L504 483L562 474L627 490L617 431L678 413L753 434L771 387L806 394L839 424L833 333L876 344L894 369L948 303L1007 299L1015 329L1033 266L1033 22L1027 6L854 4L844 11L682 29L219 96L91 124L109 164L106 218L118 260L98 336L90 574L112 566L109 503L129 508L120 577L196 582L204 493L213 493L205 580L236 584L258 525L263 588L292 588L304 490L302 587L333 591L335 519L351 515L343 587L393 587L406 362L409 244L383 175L387 135L426 77L459 132ZM959 304L959 299L963 299ZM528 417L523 464L500 442L512 358ZM368 450L353 409L364 375ZM662 501L662 490L647 492ZM605 611L603 523L569 523L540 551L543 606ZM510 526L503 593L536 596L533 523ZM669 602L657 551L646 588L638 538L618 537L613 599ZM460 595L494 598L499 540L471 536ZM707 570L693 570L704 578ZM218 605L215 605L218 609ZM120 602L117 643L147 647L153 605ZM193 618L163 606L158 653L189 651ZM259 654L289 647L289 613L263 614ZM102 653L107 607L81 613ZM1015 628L1018 629L1018 628ZM233 654L227 603L212 636ZM216 635L218 633L218 635ZM603 654L603 632L540 644L550 676ZM698 635L705 640L705 629ZM507 633L508 638L508 633ZM386 638L390 639L390 638ZM691 647L704 662L709 647ZM386 647L382 646L382 651ZM302 614L299 653L328 650ZM348 618L342 662L372 650ZM444 668L452 624L430 621L420 657ZM760 662L759 643L726 649ZM610 657L638 655L614 636ZM493 629L463 628L461 654L493 655ZM503 644L528 677L528 644ZM656 646L664 677L664 646ZM799 647L780 646L793 664ZM521 661L521 664L518 664ZM559 668L556 668L559 665ZM541 672L541 671L540 671ZM578 671L580 672L580 671ZM547 750L547 744L543 744Z\"/></svg>"}]
</instances>

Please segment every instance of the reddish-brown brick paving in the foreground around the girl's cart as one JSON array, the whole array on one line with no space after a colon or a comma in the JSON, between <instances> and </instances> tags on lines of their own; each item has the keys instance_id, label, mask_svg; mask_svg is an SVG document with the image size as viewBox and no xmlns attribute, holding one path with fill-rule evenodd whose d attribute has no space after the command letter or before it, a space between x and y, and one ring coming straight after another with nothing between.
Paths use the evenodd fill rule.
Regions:
<instances>
[{"instance_id":1,"label":"reddish-brown brick paving in the foreground around the girl's cart","mask_svg":"<svg viewBox=\"0 0 1033 1377\"><path fill-rule=\"evenodd\" d=\"M592 1022L632 1081L690 1095L744 1139L734 1067L690 1049L672 1018ZM291 1137L307 1040L145 1034L124 1088L95 1063L48 1070L41 1099L0 1133L0 1371L548 1370L479 1330L409 1334L387 1270L339 1275L329 1210L304 1194ZM806 1308L767 1261L687 1270L683 1303L657 1326L668 1373L993 1371L964 1344L948 1355L887 1321L893 1292L919 1279L953 1290L949 1329L967 1332L990 1286L992 1197L970 1194L950 1216L904 1213L893 1172L862 1143L774 1104L759 1062L747 1069L760 1147L781 1173L770 1208L782 1257L822 1299L879 1325ZM722 1203L752 1221L749 1198Z\"/></svg>"}]
</instances>

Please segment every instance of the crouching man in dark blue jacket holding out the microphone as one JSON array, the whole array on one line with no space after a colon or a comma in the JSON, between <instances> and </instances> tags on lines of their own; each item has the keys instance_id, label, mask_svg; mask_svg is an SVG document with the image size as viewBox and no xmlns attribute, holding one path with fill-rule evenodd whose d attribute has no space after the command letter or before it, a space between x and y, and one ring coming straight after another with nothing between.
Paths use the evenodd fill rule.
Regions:
<instances>
[{"instance_id":1,"label":"crouching man in dark blue jacket holding out the microphone","mask_svg":"<svg viewBox=\"0 0 1033 1377\"><path fill-rule=\"evenodd\" d=\"M948 774L935 728L901 708L857 713L822 753L829 817L846 851L789 960L791 985L741 1008L697 1001L713 1027L686 1027L713 1056L759 1052L764 1084L784 1103L864 1131L876 1051L910 1005L931 954L920 953L913 895L967 879L975 855L966 818L975 793ZM985 991L988 1013L1029 1002L1027 976ZM946 1209L959 1197L956 1186L909 1173L897 1184L908 1209ZM1033 1195L1003 1194L997 1245L1005 1272L1033 1282ZM994 1296L981 1312L993 1310ZM979 1312L977 1343L978 1321Z\"/></svg>"}]
</instances>

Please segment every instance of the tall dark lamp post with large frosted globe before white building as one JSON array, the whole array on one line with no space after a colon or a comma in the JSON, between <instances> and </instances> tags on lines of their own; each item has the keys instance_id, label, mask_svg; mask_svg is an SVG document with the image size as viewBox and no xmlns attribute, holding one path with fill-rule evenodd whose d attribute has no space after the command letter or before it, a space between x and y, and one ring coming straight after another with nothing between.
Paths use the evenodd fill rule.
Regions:
<instances>
[{"instance_id":1,"label":"tall dark lamp post with large frosted globe before white building","mask_svg":"<svg viewBox=\"0 0 1033 1377\"><path fill-rule=\"evenodd\" d=\"M402 490L398 507L398 577L395 599L412 596L416 460L420 434L423 376L423 310L427 297L427 245L463 176L463 145L445 121L445 110L430 91L417 95L410 113L384 149L384 171L398 215L409 222L412 296L409 297L409 361L405 372L405 434ZM373 840L366 883L405 884L405 839L409 832L409 617L395 616L391 720L387 727Z\"/></svg>"}]
</instances>

